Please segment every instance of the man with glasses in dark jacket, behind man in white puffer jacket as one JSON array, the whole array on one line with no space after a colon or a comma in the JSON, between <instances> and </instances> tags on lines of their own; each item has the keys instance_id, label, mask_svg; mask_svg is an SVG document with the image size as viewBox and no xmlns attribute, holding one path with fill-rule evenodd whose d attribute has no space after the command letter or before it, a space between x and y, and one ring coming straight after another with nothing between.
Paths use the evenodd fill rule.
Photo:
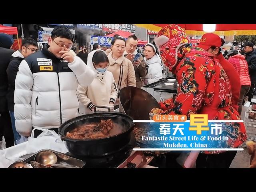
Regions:
<instances>
[{"instance_id":1,"label":"man with glasses in dark jacket, behind man in white puffer jacket","mask_svg":"<svg viewBox=\"0 0 256 192\"><path fill-rule=\"evenodd\" d=\"M10 59L9 66L6 70L8 76L8 92L7 92L7 101L8 101L8 110L10 112L12 120L12 131L14 134L15 144L17 140L20 139L20 134L16 131L15 128L15 118L14 118L14 90L15 90L15 78L20 66L20 62L24 60L30 54L38 50L37 42L32 38L26 38L22 41L21 50L17 50L12 54Z\"/></svg>"}]
</instances>

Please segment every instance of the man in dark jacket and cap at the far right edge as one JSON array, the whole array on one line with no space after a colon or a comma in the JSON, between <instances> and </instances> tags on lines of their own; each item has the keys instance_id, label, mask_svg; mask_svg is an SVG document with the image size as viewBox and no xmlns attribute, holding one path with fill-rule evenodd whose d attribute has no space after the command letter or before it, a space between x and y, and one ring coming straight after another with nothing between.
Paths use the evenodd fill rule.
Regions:
<instances>
[{"instance_id":1,"label":"man in dark jacket and cap at the far right edge","mask_svg":"<svg viewBox=\"0 0 256 192\"><path fill-rule=\"evenodd\" d=\"M251 78L251 88L247 94L249 97L248 101L251 102L256 84L256 51L253 49L253 43L250 41L245 42L245 44L242 46L244 47L244 52L246 54L245 59L248 63L248 69Z\"/></svg>"}]
</instances>

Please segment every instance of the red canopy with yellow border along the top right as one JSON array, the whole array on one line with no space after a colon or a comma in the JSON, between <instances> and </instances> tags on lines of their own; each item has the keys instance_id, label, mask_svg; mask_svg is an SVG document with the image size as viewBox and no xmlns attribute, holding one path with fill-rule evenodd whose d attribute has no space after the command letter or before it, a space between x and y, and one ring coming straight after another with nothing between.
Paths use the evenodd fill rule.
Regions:
<instances>
[{"instance_id":1,"label":"red canopy with yellow border along the top right","mask_svg":"<svg viewBox=\"0 0 256 192\"><path fill-rule=\"evenodd\" d=\"M135 24L152 31L160 31L168 24ZM202 35L203 24L177 24L186 30L188 35ZM256 24L216 24L215 34L218 35L256 35Z\"/></svg>"}]
</instances>

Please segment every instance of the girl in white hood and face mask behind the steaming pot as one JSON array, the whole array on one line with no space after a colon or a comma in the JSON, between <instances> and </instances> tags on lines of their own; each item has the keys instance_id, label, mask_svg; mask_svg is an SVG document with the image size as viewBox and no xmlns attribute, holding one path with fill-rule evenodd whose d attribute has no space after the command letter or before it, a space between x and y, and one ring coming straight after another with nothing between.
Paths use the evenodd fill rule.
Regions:
<instances>
[{"instance_id":1,"label":"girl in white hood and face mask behind the steaming pot","mask_svg":"<svg viewBox=\"0 0 256 192\"><path fill-rule=\"evenodd\" d=\"M95 106L110 107L114 109L118 89L114 77L107 70L108 56L103 50L94 50L88 55L88 66L94 69L95 78L86 88L78 85L78 99L84 105L85 114L92 113ZM106 109L98 109L106 110Z\"/></svg>"}]
</instances>

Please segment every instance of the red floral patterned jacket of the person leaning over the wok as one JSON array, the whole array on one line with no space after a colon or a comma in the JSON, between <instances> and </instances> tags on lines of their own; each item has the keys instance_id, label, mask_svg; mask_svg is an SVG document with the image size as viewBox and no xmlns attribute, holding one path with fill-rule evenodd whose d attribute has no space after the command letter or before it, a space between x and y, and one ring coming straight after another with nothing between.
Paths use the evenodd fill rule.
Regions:
<instances>
[{"instance_id":1,"label":"red floral patterned jacket of the person leaning over the wok","mask_svg":"<svg viewBox=\"0 0 256 192\"><path fill-rule=\"evenodd\" d=\"M209 120L240 120L231 106L228 77L214 57L205 50L194 47L175 70L179 88L173 98L160 102L161 114L208 114ZM243 123L225 123L222 132L229 137L227 148L236 148L246 140ZM220 153L223 151L206 151Z\"/></svg>"}]
</instances>

